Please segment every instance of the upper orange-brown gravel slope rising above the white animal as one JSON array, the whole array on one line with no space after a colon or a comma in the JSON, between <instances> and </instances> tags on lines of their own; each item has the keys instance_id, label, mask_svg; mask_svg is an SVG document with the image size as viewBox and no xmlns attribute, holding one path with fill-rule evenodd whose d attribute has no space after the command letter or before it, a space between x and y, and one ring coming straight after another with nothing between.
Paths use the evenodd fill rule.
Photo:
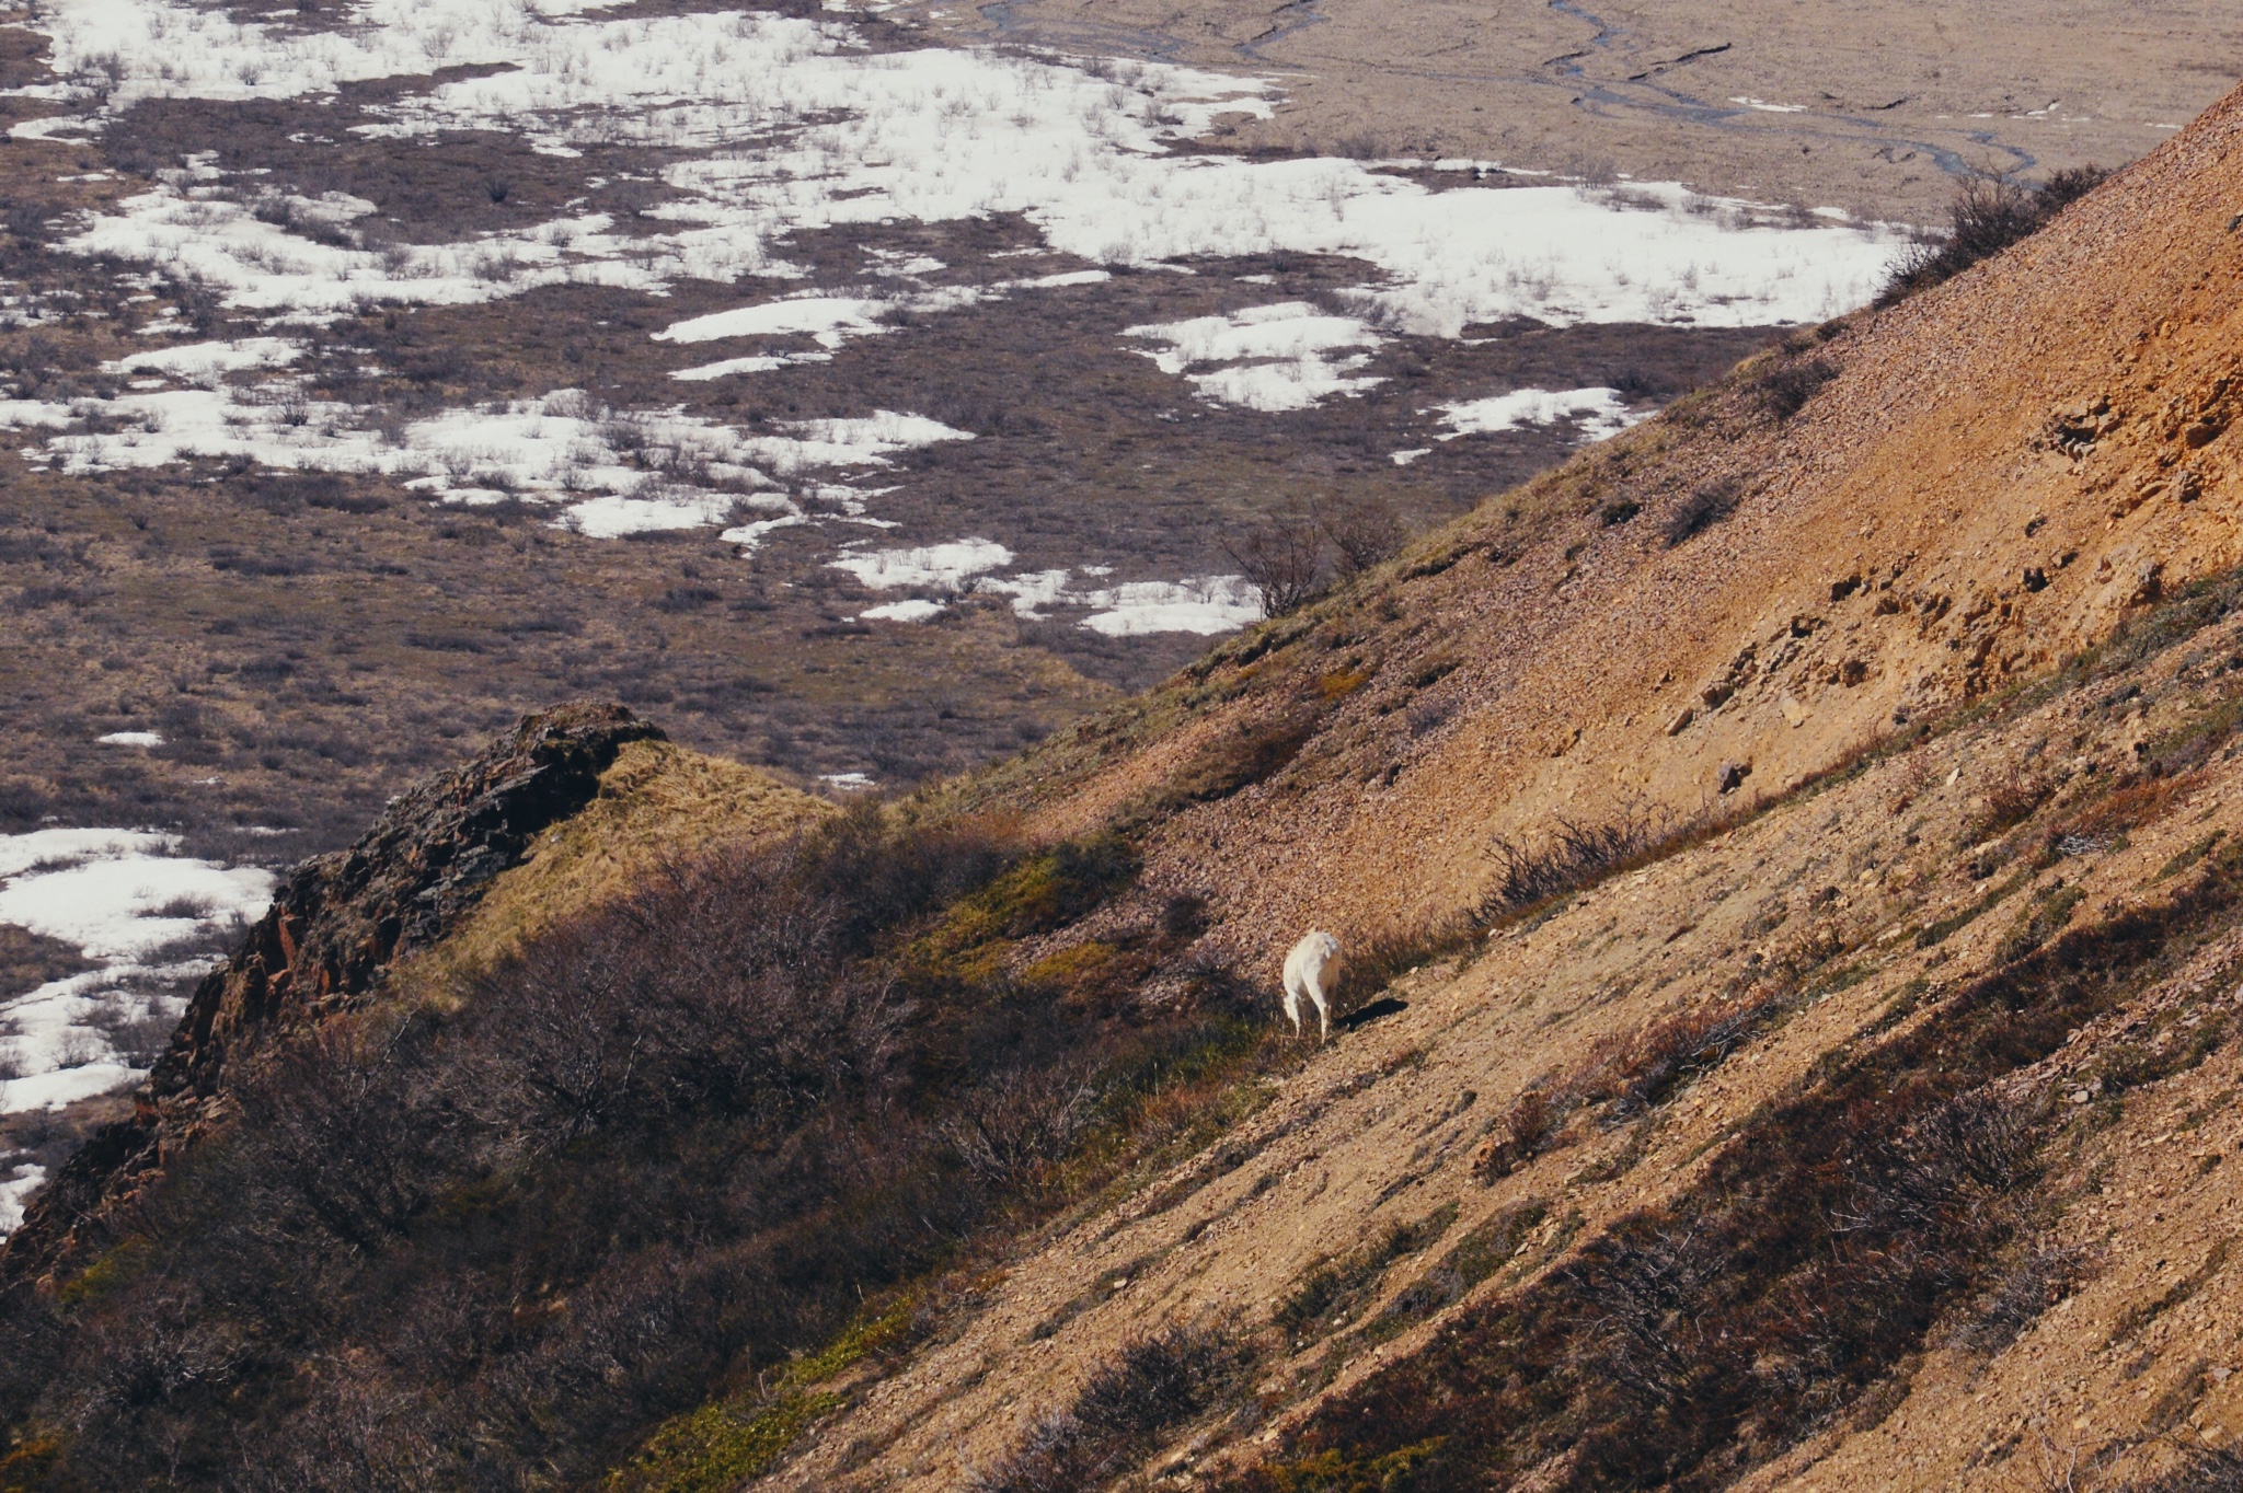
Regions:
<instances>
[{"instance_id":1,"label":"upper orange-brown gravel slope rising above the white animal","mask_svg":"<svg viewBox=\"0 0 2243 1493\"><path fill-rule=\"evenodd\" d=\"M1494 834L1691 812L1725 762L1776 794L2048 668L2239 556L2239 135L2230 96L2001 260L1801 334L989 782L1077 832L1189 800L1229 733L1310 729L1151 829L1151 879L1267 953L1469 906Z\"/></svg>"}]
</instances>

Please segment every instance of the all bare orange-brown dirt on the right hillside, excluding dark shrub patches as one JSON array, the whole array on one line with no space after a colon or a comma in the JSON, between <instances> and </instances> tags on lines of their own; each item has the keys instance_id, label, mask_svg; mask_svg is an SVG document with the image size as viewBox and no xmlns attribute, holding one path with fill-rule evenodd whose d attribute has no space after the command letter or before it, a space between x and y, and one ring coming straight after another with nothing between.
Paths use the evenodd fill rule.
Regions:
<instances>
[{"instance_id":1,"label":"all bare orange-brown dirt on the right hillside, excluding dark shrub patches","mask_svg":"<svg viewBox=\"0 0 2243 1493\"><path fill-rule=\"evenodd\" d=\"M1541 1289L1615 1222L1689 1197L1819 1063L1871 1060L2050 937L2043 910L2093 937L2162 917L2185 885L2216 892L2227 872L2207 856L2243 832L2227 744L2243 628L2189 594L2243 560L2239 148L2243 94L1999 262L1799 339L960 789L1027 803L1052 834L1139 825L1151 890L1204 892L1216 939L1254 968L1303 926L1362 939L1471 908L1492 838L1536 843L1557 816L1765 812L1400 980L1402 1013L1317 1051L1222 1152L1025 1244L951 1332L855 1385L772 1486L969 1486L1173 1323L1261 1343L1258 1399L1184 1428L1139 1477L1204 1486L1344 1446L1346 1394ZM1817 359L1835 377L1788 421L1767 415L1770 370ZM1676 507L1723 480L1736 513L1667 547ZM1640 511L1608 522L1624 502ZM1272 720L1314 722L1285 767L1164 807ZM1723 764L1750 764L1732 796ZM2214 1036L2104 1083L2138 1049L2232 1022L2243 930L2207 917L1996 1083L2052 1114L2032 1199L2043 1244L2073 1260L2057 1300L2007 1345L1949 1302L1875 1392L1756 1453L1747 1486L2122 1489L2243 1435L2243 1285L2223 1249L2243 1206L2243 1060ZM1718 1072L1494 1184L1474 1172L1523 1089L1779 964L1817 998ZM1510 1267L1393 1336L1366 1327L1521 1202L1545 1222ZM1274 1334L1319 1260L1444 1206L1440 1242L1375 1273L1346 1320Z\"/></svg>"}]
</instances>

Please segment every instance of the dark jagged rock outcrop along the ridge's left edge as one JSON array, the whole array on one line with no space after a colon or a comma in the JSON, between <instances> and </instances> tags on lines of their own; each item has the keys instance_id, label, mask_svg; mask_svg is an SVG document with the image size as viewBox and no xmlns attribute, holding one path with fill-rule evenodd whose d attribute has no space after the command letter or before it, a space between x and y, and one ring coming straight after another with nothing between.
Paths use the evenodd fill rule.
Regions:
<instances>
[{"instance_id":1,"label":"dark jagged rock outcrop along the ridge's left edge","mask_svg":"<svg viewBox=\"0 0 2243 1493\"><path fill-rule=\"evenodd\" d=\"M224 1114L260 1047L363 1004L397 957L455 928L541 829L590 803L639 740L662 731L624 706L525 715L476 760L390 800L348 850L292 868L227 966L195 989L135 1116L87 1141L0 1246L0 1285L67 1262L90 1222Z\"/></svg>"}]
</instances>

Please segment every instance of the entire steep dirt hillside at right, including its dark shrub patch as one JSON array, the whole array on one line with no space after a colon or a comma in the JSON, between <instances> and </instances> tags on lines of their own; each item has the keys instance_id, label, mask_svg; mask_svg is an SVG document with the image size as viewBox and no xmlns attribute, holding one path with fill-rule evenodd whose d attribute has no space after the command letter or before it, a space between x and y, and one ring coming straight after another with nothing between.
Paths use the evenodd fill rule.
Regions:
<instances>
[{"instance_id":1,"label":"entire steep dirt hillside at right, including its dark shrub patch","mask_svg":"<svg viewBox=\"0 0 2243 1493\"><path fill-rule=\"evenodd\" d=\"M1135 827L1258 968L1442 948L1496 836L1705 818L1054 1224L772 1484L1045 1486L1178 1325L1254 1392L1108 1477L2115 1489L2243 1435L2239 139L960 789Z\"/></svg>"}]
</instances>

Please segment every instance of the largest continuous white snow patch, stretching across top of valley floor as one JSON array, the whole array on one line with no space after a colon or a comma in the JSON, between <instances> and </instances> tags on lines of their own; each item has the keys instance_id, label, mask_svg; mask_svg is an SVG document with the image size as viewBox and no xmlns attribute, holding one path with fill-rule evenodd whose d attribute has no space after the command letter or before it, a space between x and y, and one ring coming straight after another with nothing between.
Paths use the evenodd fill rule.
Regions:
<instances>
[{"instance_id":1,"label":"largest continuous white snow patch, stretching across top of valley floor","mask_svg":"<svg viewBox=\"0 0 2243 1493\"><path fill-rule=\"evenodd\" d=\"M1570 186L1436 193L1366 161L1173 150L1222 112L1267 114L1272 87L1256 78L1169 65L1099 78L1059 58L875 54L830 20L585 9L361 0L354 25L301 36L182 2L61 0L36 27L56 38L65 72L105 78L108 112L144 96L298 96L480 63L502 69L408 92L361 132L509 130L554 152L594 141L709 152L668 166L664 184L677 195L628 233L590 215L467 244L350 249L179 182L119 204L70 242L197 273L238 305L332 312L361 298L449 303L561 280L659 289L801 273L778 258L778 240L1018 213L1047 249L1095 265L1353 256L1375 271L1355 298L1379 325L1444 336L1505 316L1819 321L1866 300L1902 249L1900 233L1875 229L1738 226L1745 204L1689 211L1707 200L1671 184L1631 184L1631 202L1664 211L1624 211ZM99 94L87 87L83 99Z\"/></svg>"}]
</instances>

